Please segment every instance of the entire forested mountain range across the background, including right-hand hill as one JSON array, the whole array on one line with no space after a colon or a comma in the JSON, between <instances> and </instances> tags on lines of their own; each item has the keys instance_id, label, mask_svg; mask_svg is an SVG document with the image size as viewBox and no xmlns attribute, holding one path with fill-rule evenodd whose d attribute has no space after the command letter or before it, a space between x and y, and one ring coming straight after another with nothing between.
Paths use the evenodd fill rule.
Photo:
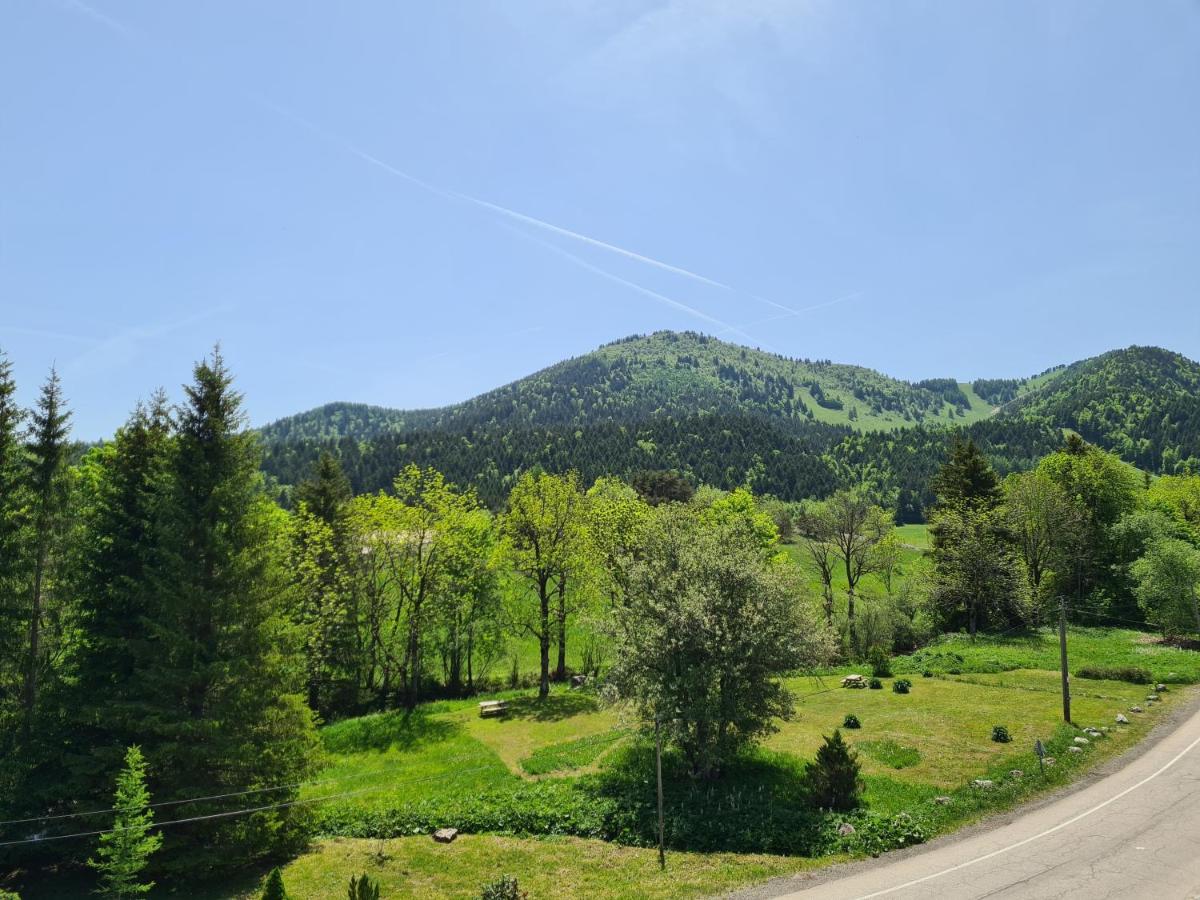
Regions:
<instances>
[{"instance_id":1,"label":"entire forested mountain range across the background, including right-hand hill","mask_svg":"<svg viewBox=\"0 0 1200 900\"><path fill-rule=\"evenodd\" d=\"M353 403L263 428L265 470L298 484L322 450L358 492L407 463L433 466L499 505L522 470L584 480L674 469L696 484L750 484L784 499L870 478L904 521L960 428L1003 474L1078 431L1151 472L1200 467L1200 366L1133 347L1032 378L901 382L792 360L694 332L630 337L464 403L402 412Z\"/></svg>"}]
</instances>

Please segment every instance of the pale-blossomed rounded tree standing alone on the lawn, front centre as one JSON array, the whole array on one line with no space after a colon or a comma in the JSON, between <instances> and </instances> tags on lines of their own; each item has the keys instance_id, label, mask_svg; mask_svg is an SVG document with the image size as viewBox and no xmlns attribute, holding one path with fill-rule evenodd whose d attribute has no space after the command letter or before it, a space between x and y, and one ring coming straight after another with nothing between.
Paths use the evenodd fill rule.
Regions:
<instances>
[{"instance_id":1,"label":"pale-blossomed rounded tree standing alone on the lawn, front centre","mask_svg":"<svg viewBox=\"0 0 1200 900\"><path fill-rule=\"evenodd\" d=\"M826 659L828 632L796 602L752 529L659 508L612 614L610 679L712 778L792 712L780 674Z\"/></svg>"}]
</instances>

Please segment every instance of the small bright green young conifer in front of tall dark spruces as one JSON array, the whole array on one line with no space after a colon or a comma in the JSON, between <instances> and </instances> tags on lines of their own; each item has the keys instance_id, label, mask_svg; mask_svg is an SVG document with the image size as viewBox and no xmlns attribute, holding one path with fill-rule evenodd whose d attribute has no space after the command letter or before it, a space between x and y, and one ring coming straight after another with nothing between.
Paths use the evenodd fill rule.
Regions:
<instances>
[{"instance_id":1,"label":"small bright green young conifer in front of tall dark spruces","mask_svg":"<svg viewBox=\"0 0 1200 900\"><path fill-rule=\"evenodd\" d=\"M154 811L146 790L146 763L137 745L126 752L125 768L116 776L113 808L116 810L113 827L100 835L96 856L88 865L100 872L101 896L113 900L143 896L150 893L154 882L140 881L140 875L162 846L162 835L150 833Z\"/></svg>"}]
</instances>

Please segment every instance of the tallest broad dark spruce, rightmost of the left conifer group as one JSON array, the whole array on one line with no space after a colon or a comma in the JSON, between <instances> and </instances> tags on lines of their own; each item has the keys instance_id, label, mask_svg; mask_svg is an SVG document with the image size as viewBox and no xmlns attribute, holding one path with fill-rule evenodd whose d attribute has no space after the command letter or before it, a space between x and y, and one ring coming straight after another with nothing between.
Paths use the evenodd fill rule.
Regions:
<instances>
[{"instance_id":1,"label":"tallest broad dark spruce, rightmost of the left conifer group","mask_svg":"<svg viewBox=\"0 0 1200 900\"><path fill-rule=\"evenodd\" d=\"M312 713L282 607L286 522L263 493L258 444L218 350L199 362L176 410L148 616L156 652L142 670L139 718L160 796L182 799L304 780L314 768ZM272 803L294 797L272 790ZM256 806L253 794L191 815ZM300 838L294 809L173 830L174 870L235 865Z\"/></svg>"}]
</instances>

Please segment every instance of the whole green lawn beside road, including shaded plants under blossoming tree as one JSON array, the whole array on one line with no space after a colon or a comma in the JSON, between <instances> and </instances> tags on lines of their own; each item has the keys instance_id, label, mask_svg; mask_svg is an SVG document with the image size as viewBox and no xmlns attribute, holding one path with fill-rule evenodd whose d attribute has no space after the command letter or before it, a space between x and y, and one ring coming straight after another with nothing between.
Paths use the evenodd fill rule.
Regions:
<instances>
[{"instance_id":1,"label":"whole green lawn beside road, including shaded plants under blossoming tree","mask_svg":"<svg viewBox=\"0 0 1200 900\"><path fill-rule=\"evenodd\" d=\"M1070 647L1074 665L1135 660L1156 678L1174 672L1176 680L1200 679L1200 654L1160 647L1138 632L1073 629ZM738 815L743 823L757 821L758 804L774 803L772 821L790 822L788 811L778 804L792 802L782 798L794 798L788 790L803 762L812 758L823 734L853 713L862 727L842 733L863 763L868 814L911 814L931 835L1066 784L1096 761L1134 744L1163 708L1180 703L1192 690L1175 688L1162 703L1148 704L1145 685L1073 679L1075 724L1110 731L1084 752L1070 754L1067 746L1079 731L1060 722L1052 632L974 643L950 636L894 662L898 674L907 673L912 680L907 695L890 690L894 679L883 679L883 690L840 688L840 674L853 667L822 678L790 679L798 696L797 714L779 724L756 757L730 774L715 800L712 796L706 800L712 788L697 788L678 772L672 774L668 820L697 802L715 803L715 809L726 811L698 818L720 833L721 822L733 822ZM931 677L922 674L925 670ZM592 695L556 686L544 703L532 691L503 696L511 712L502 719L480 719L476 701L451 701L426 704L413 715L388 713L328 726L323 736L331 764L324 778L338 780L313 785L305 797L356 793L317 805L326 833L342 836L318 841L286 866L290 895L340 896L350 874L368 871L380 880L384 896L478 896L484 882L512 874L533 898L688 898L833 859L794 852L684 852L690 841L710 844L714 832L704 830L706 822L690 823L691 830L676 830L668 822L679 850L668 854L662 875L654 851L644 846L644 833L636 829L632 842L641 847L566 836L598 833L588 829L601 821L599 808L577 793L584 785L599 784L588 779L616 776L613 784L632 791L642 814L653 815L652 770L630 768L631 761L649 758L646 745L635 734L635 722L601 708ZM1145 713L1128 712L1138 703ZM1116 725L1118 712L1126 712L1130 725ZM1008 728L1012 743L992 742L995 725ZM1057 757L1045 778L1032 752L1038 739ZM1025 774L1013 776L1013 769ZM995 787L972 787L977 778L994 780ZM772 799L778 790L782 793ZM936 803L938 796L949 800ZM512 804L510 812L504 803ZM422 818L424 814L428 815ZM428 838L433 822L457 824L468 833L452 845L438 845ZM215 896L251 898L256 887L247 881Z\"/></svg>"}]
</instances>

